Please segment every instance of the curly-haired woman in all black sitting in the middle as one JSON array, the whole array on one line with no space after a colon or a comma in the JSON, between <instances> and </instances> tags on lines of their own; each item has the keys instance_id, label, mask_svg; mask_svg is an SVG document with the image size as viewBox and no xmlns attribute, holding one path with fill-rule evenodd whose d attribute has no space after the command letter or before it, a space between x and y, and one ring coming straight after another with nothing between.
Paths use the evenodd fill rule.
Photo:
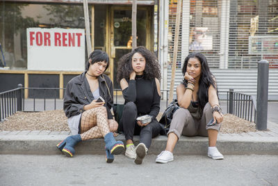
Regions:
<instances>
[{"instance_id":1,"label":"curly-haired woman in all black sitting in the middle","mask_svg":"<svg viewBox=\"0 0 278 186\"><path fill-rule=\"evenodd\" d=\"M151 146L152 138L163 132L163 127L156 121L161 102L159 81L160 65L156 56L145 47L137 47L120 59L117 81L120 82L124 96L124 111L120 125L126 139L126 157L142 160ZM137 121L138 116L149 115L149 123ZM133 144L133 135L140 134L140 144Z\"/></svg>"}]
</instances>

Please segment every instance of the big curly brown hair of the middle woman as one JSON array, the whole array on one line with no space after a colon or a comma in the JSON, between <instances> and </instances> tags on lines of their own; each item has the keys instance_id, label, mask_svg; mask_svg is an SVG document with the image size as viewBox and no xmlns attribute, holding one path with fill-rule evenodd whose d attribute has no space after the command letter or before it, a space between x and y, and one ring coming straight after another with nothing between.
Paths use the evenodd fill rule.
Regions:
<instances>
[{"instance_id":1,"label":"big curly brown hair of the middle woman","mask_svg":"<svg viewBox=\"0 0 278 186\"><path fill-rule=\"evenodd\" d=\"M119 66L117 68L117 82L120 82L121 79L129 79L131 72L133 72L132 68L132 56L135 53L140 53L143 57L145 57L146 65L144 70L144 78L145 79L153 79L157 78L159 81L161 80L161 65L158 63L156 56L150 52L145 47L137 47L129 54L125 54L121 57L119 61Z\"/></svg>"}]
</instances>

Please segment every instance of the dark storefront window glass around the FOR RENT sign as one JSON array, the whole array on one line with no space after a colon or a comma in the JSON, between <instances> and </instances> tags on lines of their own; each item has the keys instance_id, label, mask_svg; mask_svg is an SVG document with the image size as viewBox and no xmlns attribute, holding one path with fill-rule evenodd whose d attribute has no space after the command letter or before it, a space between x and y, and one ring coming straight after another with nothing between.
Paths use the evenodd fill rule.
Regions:
<instances>
[{"instance_id":1,"label":"dark storefront window glass around the FOR RENT sign","mask_svg":"<svg viewBox=\"0 0 278 186\"><path fill-rule=\"evenodd\" d=\"M0 67L27 68L27 28L83 29L83 15L83 5L0 2Z\"/></svg>"}]
</instances>

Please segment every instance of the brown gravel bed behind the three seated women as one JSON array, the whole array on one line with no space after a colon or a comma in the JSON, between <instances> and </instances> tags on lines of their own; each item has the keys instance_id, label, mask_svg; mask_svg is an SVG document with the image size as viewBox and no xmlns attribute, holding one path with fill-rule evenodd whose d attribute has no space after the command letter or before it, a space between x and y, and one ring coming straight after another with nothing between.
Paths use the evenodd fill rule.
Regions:
<instances>
[{"instance_id":1,"label":"brown gravel bed behind the three seated women","mask_svg":"<svg viewBox=\"0 0 278 186\"><path fill-rule=\"evenodd\" d=\"M158 118L161 117L160 113ZM70 131L67 126L67 117L63 110L22 112L19 111L0 123L0 131L18 130L50 130L50 131ZM242 118L231 114L224 114L224 121L220 129L221 133L243 133L255 132L256 124L250 123Z\"/></svg>"}]
</instances>

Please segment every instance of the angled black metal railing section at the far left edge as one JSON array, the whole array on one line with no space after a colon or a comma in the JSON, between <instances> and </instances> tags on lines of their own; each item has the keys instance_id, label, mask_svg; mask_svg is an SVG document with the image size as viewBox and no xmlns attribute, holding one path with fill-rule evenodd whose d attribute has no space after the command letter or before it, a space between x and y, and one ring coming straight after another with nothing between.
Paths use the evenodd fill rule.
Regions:
<instances>
[{"instance_id":1,"label":"angled black metal railing section at the far left edge","mask_svg":"<svg viewBox=\"0 0 278 186\"><path fill-rule=\"evenodd\" d=\"M22 84L18 88L0 93L0 121L22 111Z\"/></svg>"}]
</instances>

